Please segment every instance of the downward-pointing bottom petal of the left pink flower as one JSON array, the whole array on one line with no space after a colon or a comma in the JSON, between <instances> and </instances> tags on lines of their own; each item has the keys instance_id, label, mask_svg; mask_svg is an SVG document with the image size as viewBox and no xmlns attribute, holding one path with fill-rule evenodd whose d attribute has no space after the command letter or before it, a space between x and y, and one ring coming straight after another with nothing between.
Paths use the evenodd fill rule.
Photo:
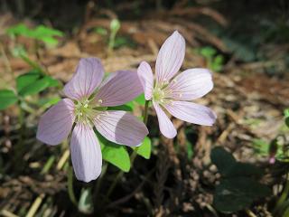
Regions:
<instances>
[{"instance_id":1,"label":"downward-pointing bottom petal of the left pink flower","mask_svg":"<svg viewBox=\"0 0 289 217\"><path fill-rule=\"evenodd\" d=\"M92 127L83 123L74 127L70 153L77 179L88 183L98 178L101 173L102 156L98 138Z\"/></svg>"}]
</instances>

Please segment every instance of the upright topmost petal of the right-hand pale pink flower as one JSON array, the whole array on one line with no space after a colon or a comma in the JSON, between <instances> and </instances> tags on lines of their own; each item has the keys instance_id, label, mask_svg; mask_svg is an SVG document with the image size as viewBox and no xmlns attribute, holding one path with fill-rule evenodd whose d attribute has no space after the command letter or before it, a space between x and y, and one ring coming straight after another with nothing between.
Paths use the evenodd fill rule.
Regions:
<instances>
[{"instance_id":1,"label":"upright topmost petal of the right-hand pale pink flower","mask_svg":"<svg viewBox=\"0 0 289 217\"><path fill-rule=\"evenodd\" d=\"M182 66L184 54L185 41L178 31L174 31L157 55L155 72L158 83L172 79Z\"/></svg>"}]
</instances>

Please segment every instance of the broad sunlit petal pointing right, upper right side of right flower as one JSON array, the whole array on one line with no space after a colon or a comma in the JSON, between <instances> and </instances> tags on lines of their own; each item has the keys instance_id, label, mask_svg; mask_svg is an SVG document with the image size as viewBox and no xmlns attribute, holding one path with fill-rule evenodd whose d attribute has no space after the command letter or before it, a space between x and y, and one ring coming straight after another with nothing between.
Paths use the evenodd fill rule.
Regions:
<instances>
[{"instance_id":1,"label":"broad sunlit petal pointing right, upper right side of right flower","mask_svg":"<svg viewBox=\"0 0 289 217\"><path fill-rule=\"evenodd\" d=\"M211 73L207 69L191 69L177 75L168 85L167 97L176 100L198 99L213 89Z\"/></svg>"}]
</instances>

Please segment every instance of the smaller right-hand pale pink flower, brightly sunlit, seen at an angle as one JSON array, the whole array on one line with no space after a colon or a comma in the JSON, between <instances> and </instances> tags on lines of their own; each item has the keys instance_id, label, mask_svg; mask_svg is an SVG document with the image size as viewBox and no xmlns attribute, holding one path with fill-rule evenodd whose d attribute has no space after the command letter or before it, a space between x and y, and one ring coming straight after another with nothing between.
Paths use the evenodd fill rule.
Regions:
<instances>
[{"instance_id":1,"label":"smaller right-hand pale pink flower, brightly sunlit, seen at an angle","mask_svg":"<svg viewBox=\"0 0 289 217\"><path fill-rule=\"evenodd\" d=\"M185 42L175 31L163 43L155 63L155 79L150 65L143 61L137 69L146 100L152 100L164 137L175 137L177 132L164 110L173 117L194 124L211 126L215 113L204 106L190 102L199 99L213 88L211 73L207 69L190 69L176 75L185 54Z\"/></svg>"}]
</instances>

